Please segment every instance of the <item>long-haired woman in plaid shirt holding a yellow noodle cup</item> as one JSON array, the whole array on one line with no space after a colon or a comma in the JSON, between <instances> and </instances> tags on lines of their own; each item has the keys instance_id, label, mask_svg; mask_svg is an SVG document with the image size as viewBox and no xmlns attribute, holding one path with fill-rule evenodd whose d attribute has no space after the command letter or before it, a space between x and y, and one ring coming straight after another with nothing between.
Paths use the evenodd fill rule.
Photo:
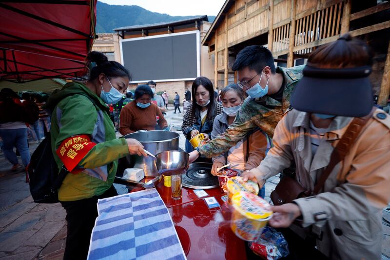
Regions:
<instances>
[{"instance_id":1,"label":"long-haired woman in plaid shirt holding a yellow noodle cup","mask_svg":"<svg viewBox=\"0 0 390 260\"><path fill-rule=\"evenodd\" d=\"M210 140L215 116L222 113L222 105L215 101L213 83L206 77L198 77L192 84L192 96L194 99L188 105L183 117L181 130L187 138L186 152L192 152L189 140L199 133L205 135L205 140Z\"/></svg>"}]
</instances>

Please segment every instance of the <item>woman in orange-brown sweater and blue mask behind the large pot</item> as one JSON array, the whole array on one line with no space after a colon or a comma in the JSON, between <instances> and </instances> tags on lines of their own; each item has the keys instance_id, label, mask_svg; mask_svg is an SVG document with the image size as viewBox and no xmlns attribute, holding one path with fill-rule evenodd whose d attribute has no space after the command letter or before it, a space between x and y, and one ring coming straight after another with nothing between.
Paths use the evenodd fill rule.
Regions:
<instances>
[{"instance_id":1,"label":"woman in orange-brown sweater and blue mask behind the large pot","mask_svg":"<svg viewBox=\"0 0 390 260\"><path fill-rule=\"evenodd\" d=\"M120 111L119 132L122 135L138 130L156 130L156 123L162 130L168 130L168 124L160 109L151 102L152 89L148 85L137 86L135 100L126 104Z\"/></svg>"}]
</instances>

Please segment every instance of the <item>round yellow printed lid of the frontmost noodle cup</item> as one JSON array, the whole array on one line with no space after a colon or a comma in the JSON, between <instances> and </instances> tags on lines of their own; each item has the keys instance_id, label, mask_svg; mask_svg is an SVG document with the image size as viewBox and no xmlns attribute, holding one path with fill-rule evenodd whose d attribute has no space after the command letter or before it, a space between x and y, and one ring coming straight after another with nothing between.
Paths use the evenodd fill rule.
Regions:
<instances>
[{"instance_id":1,"label":"round yellow printed lid of the frontmost noodle cup","mask_svg":"<svg viewBox=\"0 0 390 260\"><path fill-rule=\"evenodd\" d=\"M232 204L235 210L247 219L265 220L270 219L273 212L267 210L270 203L261 197L248 192L240 192L233 196Z\"/></svg>"}]
</instances>

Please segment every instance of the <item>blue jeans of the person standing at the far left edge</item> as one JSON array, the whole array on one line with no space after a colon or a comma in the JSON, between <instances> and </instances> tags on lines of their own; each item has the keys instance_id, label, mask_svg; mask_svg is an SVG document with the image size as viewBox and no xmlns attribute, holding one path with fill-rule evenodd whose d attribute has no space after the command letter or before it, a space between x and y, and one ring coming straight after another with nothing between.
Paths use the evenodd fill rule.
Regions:
<instances>
[{"instance_id":1,"label":"blue jeans of the person standing at the far left edge","mask_svg":"<svg viewBox=\"0 0 390 260\"><path fill-rule=\"evenodd\" d=\"M18 157L14 152L16 147L20 153L24 167L30 162L30 150L27 143L27 128L0 129L0 136L3 140L1 149L5 158L12 164L18 164Z\"/></svg>"}]
</instances>

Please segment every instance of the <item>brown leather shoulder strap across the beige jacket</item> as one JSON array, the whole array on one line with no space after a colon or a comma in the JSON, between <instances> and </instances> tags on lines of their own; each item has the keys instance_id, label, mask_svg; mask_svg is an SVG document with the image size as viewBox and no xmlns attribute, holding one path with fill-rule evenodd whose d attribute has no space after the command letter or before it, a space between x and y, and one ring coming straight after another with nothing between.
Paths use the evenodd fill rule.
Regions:
<instances>
[{"instance_id":1,"label":"brown leather shoulder strap across the beige jacket","mask_svg":"<svg viewBox=\"0 0 390 260\"><path fill-rule=\"evenodd\" d=\"M324 186L326 179L328 179L329 175L331 174L331 171L333 170L334 166L336 166L338 162L344 160L352 144L360 134L364 125L372 117L372 114L374 113L375 110L376 107L373 107L369 115L362 118L354 118L352 120L352 122L347 128L347 131L344 133L343 137L334 148L331 154L331 160L328 166L326 167L325 171L322 173L320 180L318 180L317 184L314 186L312 195L318 194L318 192Z\"/></svg>"}]
</instances>

